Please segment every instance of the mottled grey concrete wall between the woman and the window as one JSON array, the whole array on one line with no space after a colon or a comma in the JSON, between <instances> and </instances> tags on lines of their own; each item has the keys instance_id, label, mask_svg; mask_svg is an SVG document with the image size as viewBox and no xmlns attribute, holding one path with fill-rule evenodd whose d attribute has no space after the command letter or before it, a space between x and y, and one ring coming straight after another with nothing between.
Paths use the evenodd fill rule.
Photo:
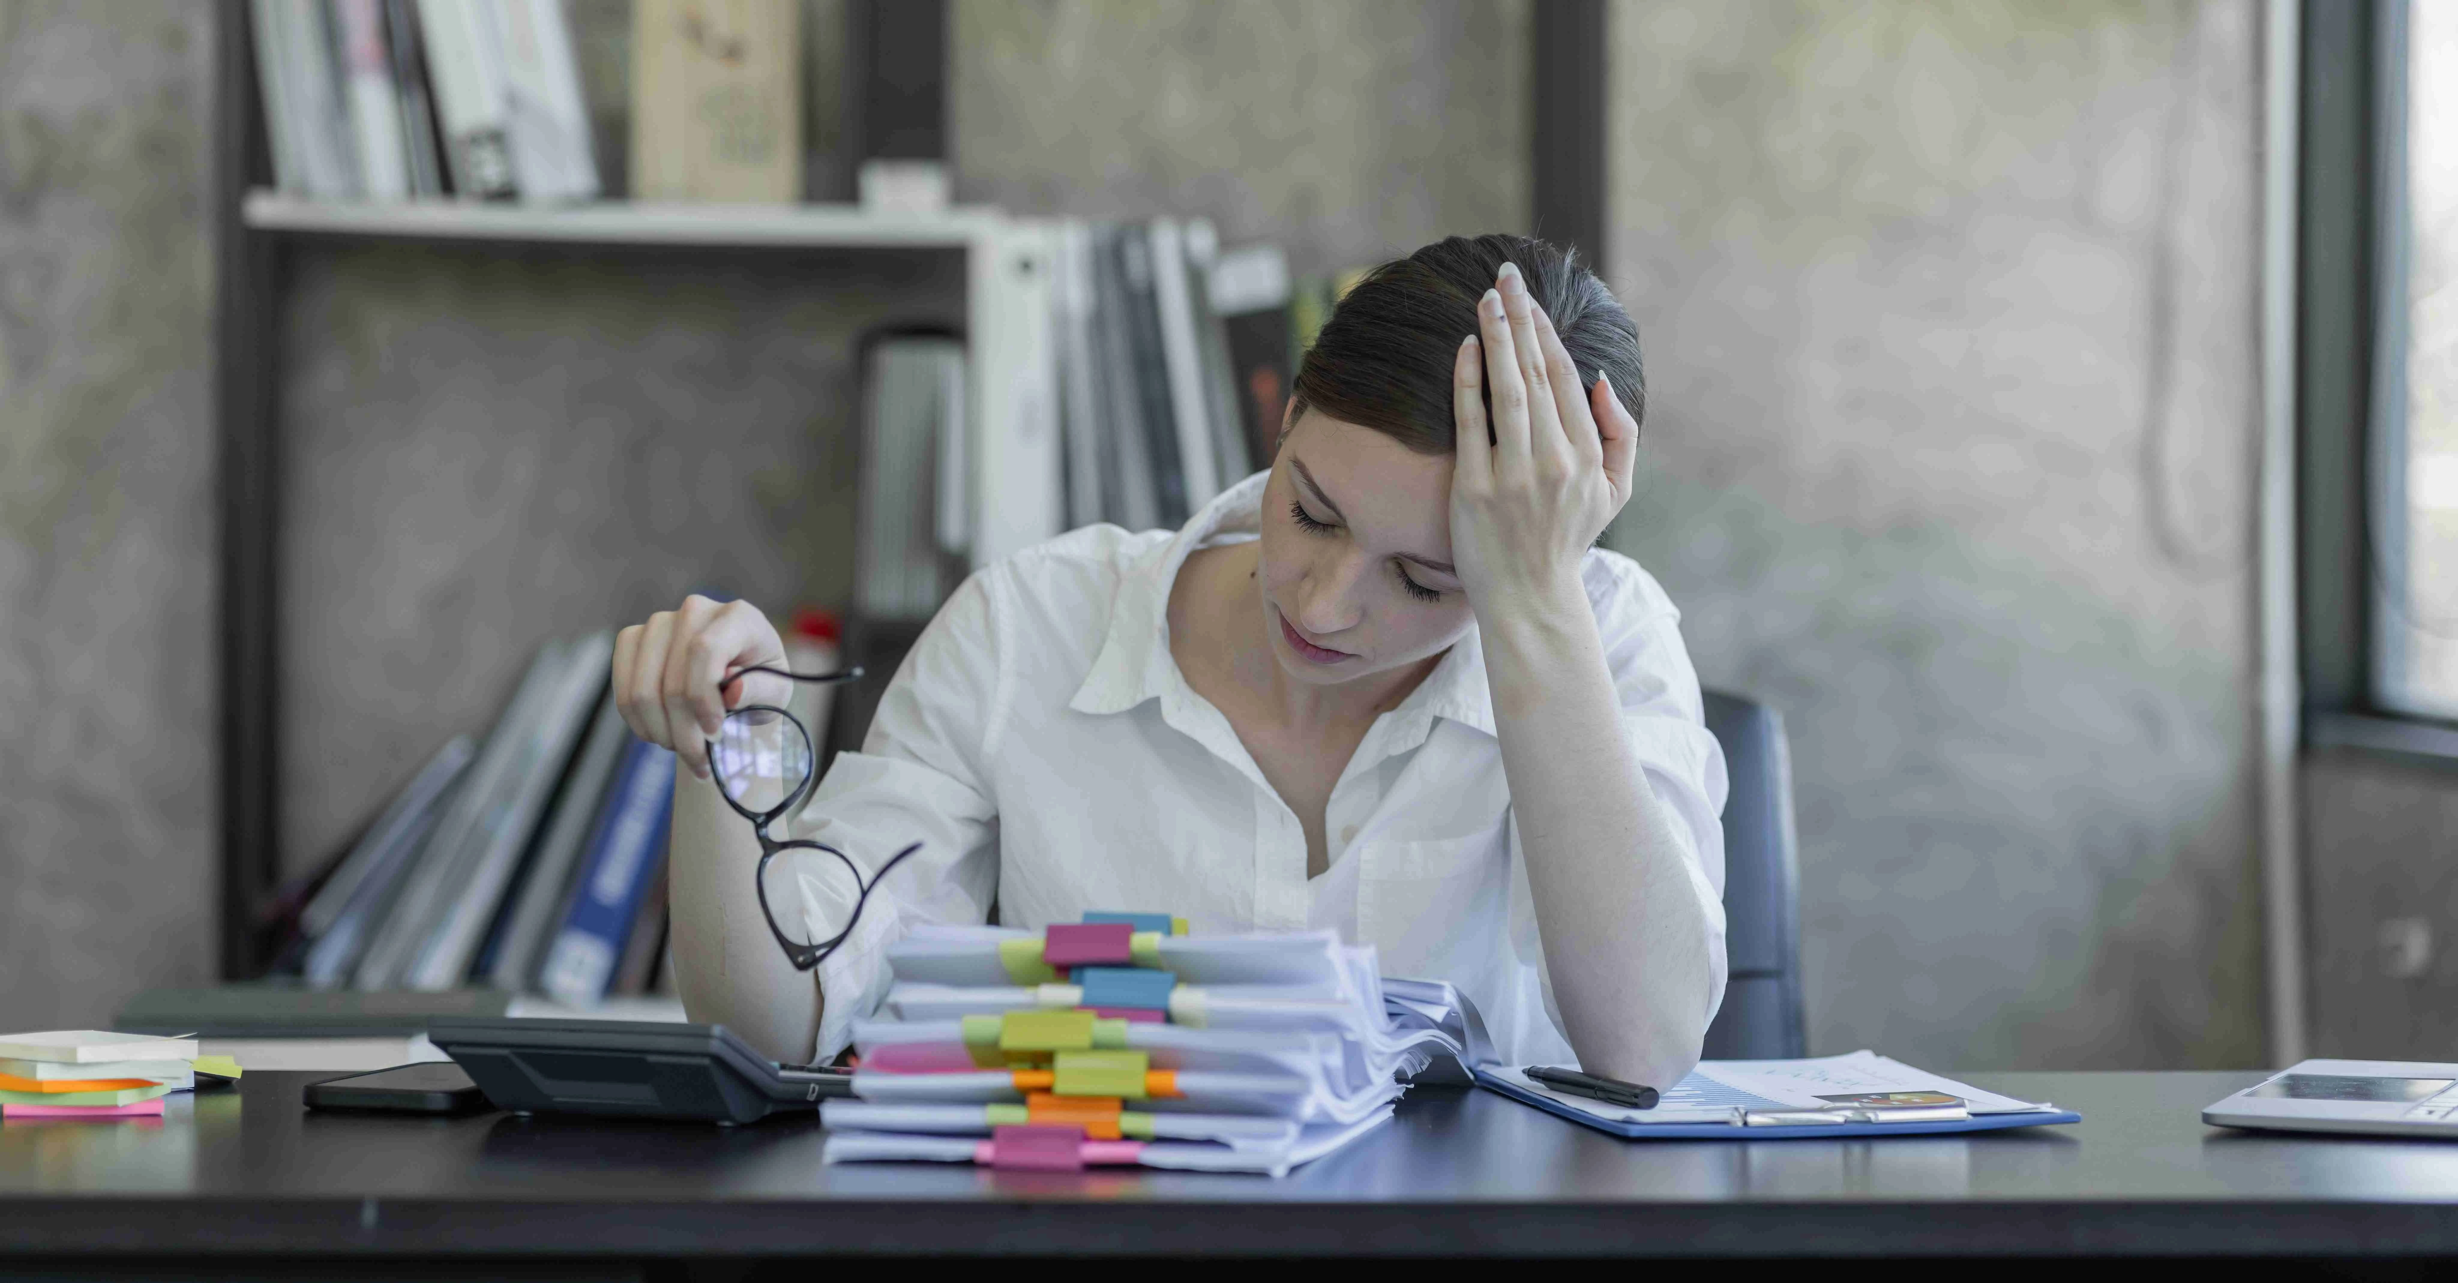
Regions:
<instances>
[{"instance_id":1,"label":"mottled grey concrete wall between the woman and the window","mask_svg":"<svg viewBox=\"0 0 2458 1283\"><path fill-rule=\"evenodd\" d=\"M1814 1050L2259 1062L2259 7L1610 39L1615 541L1789 720Z\"/></svg>"}]
</instances>

